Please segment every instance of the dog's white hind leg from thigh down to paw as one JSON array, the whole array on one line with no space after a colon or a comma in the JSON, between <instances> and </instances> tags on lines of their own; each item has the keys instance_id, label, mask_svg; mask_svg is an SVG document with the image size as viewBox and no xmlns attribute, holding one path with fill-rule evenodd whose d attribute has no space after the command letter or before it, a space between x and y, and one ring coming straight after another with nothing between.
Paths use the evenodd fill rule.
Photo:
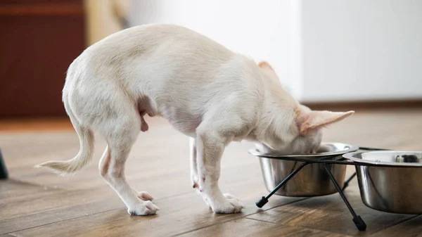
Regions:
<instances>
[{"instance_id":1,"label":"dog's white hind leg from thigh down to paw","mask_svg":"<svg viewBox=\"0 0 422 237\"><path fill-rule=\"evenodd\" d=\"M139 113L136 113L136 110L129 111L131 113L115 117L113 121L104 121L115 126L110 127L110 131L106 132L108 146L100 161L100 173L120 196L130 214L155 214L158 207L151 202L153 198L148 193L136 192L124 177L124 164L141 129Z\"/></svg>"}]
</instances>

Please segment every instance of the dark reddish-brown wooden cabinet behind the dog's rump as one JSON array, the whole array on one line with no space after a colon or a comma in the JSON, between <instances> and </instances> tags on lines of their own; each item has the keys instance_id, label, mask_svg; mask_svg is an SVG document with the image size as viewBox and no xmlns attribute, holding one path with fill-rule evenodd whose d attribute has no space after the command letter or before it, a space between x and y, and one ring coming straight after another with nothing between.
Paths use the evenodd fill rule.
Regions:
<instances>
[{"instance_id":1,"label":"dark reddish-brown wooden cabinet behind the dog's rump","mask_svg":"<svg viewBox=\"0 0 422 237\"><path fill-rule=\"evenodd\" d=\"M1 0L0 118L65 115L65 72L85 47L82 0Z\"/></svg>"}]
</instances>

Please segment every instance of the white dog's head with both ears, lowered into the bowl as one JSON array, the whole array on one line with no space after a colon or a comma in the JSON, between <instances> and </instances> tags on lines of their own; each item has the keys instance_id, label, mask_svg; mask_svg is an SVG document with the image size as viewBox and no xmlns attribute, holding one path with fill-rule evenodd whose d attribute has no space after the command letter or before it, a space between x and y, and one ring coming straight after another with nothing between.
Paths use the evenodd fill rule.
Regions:
<instances>
[{"instance_id":1,"label":"white dog's head with both ears, lowered into the bowl","mask_svg":"<svg viewBox=\"0 0 422 237\"><path fill-rule=\"evenodd\" d=\"M271 66L262 62L259 67L269 79L279 83L279 78ZM279 90L282 90L281 88ZM278 115L274 115L267 131L263 132L258 150L283 154L316 153L322 140L322 129L330 124L344 120L354 114L354 111L331 112L311 110L301 105L287 93L283 93L283 101L288 101ZM273 110L272 108L269 110Z\"/></svg>"}]
</instances>

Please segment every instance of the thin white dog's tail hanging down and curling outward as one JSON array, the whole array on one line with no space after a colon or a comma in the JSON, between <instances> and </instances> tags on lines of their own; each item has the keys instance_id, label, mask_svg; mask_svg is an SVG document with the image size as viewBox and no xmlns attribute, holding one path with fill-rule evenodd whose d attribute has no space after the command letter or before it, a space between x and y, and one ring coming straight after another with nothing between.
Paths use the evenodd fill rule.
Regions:
<instances>
[{"instance_id":1,"label":"thin white dog's tail hanging down and curling outward","mask_svg":"<svg viewBox=\"0 0 422 237\"><path fill-rule=\"evenodd\" d=\"M63 96L63 103L65 105L65 110L70 117L70 122L72 122L73 127L79 136L79 153L77 153L75 158L70 160L49 161L36 165L35 167L48 167L53 169L53 172L59 174L71 174L77 172L77 170L87 165L91 160L94 152L94 134L90 129L83 127L79 123L77 117L72 113L67 96Z\"/></svg>"}]
</instances>

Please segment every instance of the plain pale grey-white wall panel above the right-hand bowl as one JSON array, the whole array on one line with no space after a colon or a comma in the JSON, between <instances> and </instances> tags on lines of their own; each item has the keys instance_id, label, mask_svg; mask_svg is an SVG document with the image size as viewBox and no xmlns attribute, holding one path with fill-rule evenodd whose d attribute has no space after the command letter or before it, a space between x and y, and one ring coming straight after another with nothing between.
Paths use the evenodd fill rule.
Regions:
<instances>
[{"instance_id":1,"label":"plain pale grey-white wall panel above the right-hand bowl","mask_svg":"<svg viewBox=\"0 0 422 237\"><path fill-rule=\"evenodd\" d=\"M302 1L302 101L422 98L422 1Z\"/></svg>"}]
</instances>

